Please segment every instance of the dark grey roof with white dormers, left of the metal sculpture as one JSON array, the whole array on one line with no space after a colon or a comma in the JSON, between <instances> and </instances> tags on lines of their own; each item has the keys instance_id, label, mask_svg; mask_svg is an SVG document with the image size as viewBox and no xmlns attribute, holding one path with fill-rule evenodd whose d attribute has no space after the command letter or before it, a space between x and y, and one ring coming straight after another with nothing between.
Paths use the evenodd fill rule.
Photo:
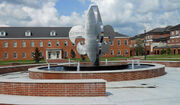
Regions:
<instances>
[{"instance_id":1,"label":"dark grey roof with white dormers, left of the metal sculpture","mask_svg":"<svg viewBox=\"0 0 180 105\"><path fill-rule=\"evenodd\" d=\"M5 31L5 38L36 38L36 37L52 37L51 31L56 32L53 37L68 37L71 27L0 27L0 31ZM25 32L30 31L32 35L25 36Z\"/></svg>"}]
</instances>

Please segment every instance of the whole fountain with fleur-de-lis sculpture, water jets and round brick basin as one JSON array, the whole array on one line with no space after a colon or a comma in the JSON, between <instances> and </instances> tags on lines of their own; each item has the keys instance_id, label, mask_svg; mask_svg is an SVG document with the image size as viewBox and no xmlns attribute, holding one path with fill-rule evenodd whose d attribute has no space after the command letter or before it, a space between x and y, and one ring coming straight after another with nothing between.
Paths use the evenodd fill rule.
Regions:
<instances>
[{"instance_id":1,"label":"whole fountain with fleur-de-lis sculpture, water jets and round brick basin","mask_svg":"<svg viewBox=\"0 0 180 105\"><path fill-rule=\"evenodd\" d=\"M107 61L100 62L102 54L109 51L110 43L114 39L114 29L103 26L97 5L91 5L87 12L85 26L74 26L69 32L69 38L75 44L76 39L85 39L85 44L78 43L77 51L81 55L87 54L91 63L60 64L50 69L37 67L29 69L31 79L104 79L107 81L135 80L160 76L164 74L164 67L157 64L140 64L140 61ZM108 36L108 41L104 40ZM158 67L157 67L158 66Z\"/></svg>"}]
</instances>

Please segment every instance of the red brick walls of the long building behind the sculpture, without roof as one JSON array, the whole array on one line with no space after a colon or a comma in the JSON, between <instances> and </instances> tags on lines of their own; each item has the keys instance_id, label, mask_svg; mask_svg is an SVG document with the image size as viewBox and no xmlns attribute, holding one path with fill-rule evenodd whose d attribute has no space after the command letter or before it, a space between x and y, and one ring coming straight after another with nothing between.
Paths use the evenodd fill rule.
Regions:
<instances>
[{"instance_id":1,"label":"red brick walls of the long building behind the sculpture, without roof","mask_svg":"<svg viewBox=\"0 0 180 105\"><path fill-rule=\"evenodd\" d=\"M76 42L79 42L83 39L77 39ZM107 40L107 39L105 39ZM118 40L120 40L120 45L118 45ZM125 44L125 40L127 40L127 44ZM67 45L65 46L65 41L67 41ZM25 42L25 47L23 47L22 43ZM40 42L43 43L43 46L40 46ZM48 42L51 42L51 46L48 46ZM59 46L56 45L56 42L59 42ZM8 43L8 45L6 45ZM14 43L16 43L16 47L14 47ZM34 43L34 46L31 45ZM77 44L77 43L76 43ZM129 38L115 38L113 41L113 45L110 47L109 53L103 55L103 57L115 57L115 56L130 56L130 48L129 48ZM47 49L60 49L62 51L62 58L71 58L71 50L73 49L76 53L76 58L79 58L80 55L76 51L76 45L73 45L68 38L49 38L49 39L1 39L0 40L0 60L31 60L32 53L35 48L38 47L40 52L45 59L47 59ZM118 51L121 53L118 54ZM126 51L126 53L125 53ZM64 53L67 52L67 57L65 57ZM112 53L111 53L112 52ZM14 56L16 53L16 56ZM24 55L23 55L24 53Z\"/></svg>"}]
</instances>

